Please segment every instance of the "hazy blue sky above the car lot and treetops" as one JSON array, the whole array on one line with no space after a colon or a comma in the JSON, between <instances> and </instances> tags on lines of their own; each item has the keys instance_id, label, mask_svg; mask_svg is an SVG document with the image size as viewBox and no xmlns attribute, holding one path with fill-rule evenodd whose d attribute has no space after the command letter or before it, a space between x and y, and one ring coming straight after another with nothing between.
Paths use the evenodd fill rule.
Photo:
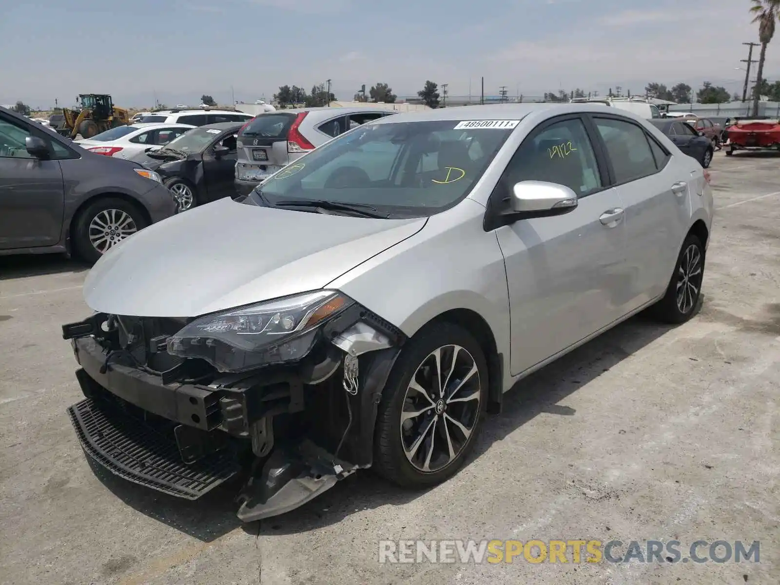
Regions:
<instances>
[{"instance_id":1,"label":"hazy blue sky above the car lot and treetops","mask_svg":"<svg viewBox=\"0 0 780 585\"><path fill-rule=\"evenodd\" d=\"M125 106L270 98L332 79L414 94L641 91L704 80L742 90L748 0L28 0L2 9L0 103L48 107L110 93ZM757 57L754 55L754 58ZM79 67L83 73L79 74ZM780 78L780 34L765 76Z\"/></svg>"}]
</instances>

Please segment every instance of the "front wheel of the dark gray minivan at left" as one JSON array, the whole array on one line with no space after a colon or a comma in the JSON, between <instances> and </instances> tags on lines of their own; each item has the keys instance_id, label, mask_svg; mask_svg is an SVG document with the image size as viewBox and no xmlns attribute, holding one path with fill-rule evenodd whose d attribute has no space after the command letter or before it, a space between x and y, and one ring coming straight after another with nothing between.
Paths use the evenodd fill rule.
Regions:
<instances>
[{"instance_id":1,"label":"front wheel of the dark gray minivan at left","mask_svg":"<svg viewBox=\"0 0 780 585\"><path fill-rule=\"evenodd\" d=\"M76 216L71 236L73 248L84 261L94 263L122 239L147 225L137 205L118 197L101 197Z\"/></svg>"}]
</instances>

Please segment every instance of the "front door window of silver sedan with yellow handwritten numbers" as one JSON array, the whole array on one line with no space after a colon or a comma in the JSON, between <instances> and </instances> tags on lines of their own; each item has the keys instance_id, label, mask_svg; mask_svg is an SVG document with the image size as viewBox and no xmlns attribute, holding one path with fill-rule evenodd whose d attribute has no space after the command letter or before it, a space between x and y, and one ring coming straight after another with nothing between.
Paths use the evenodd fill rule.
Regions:
<instances>
[{"instance_id":1,"label":"front door window of silver sedan with yellow handwritten numbers","mask_svg":"<svg viewBox=\"0 0 780 585\"><path fill-rule=\"evenodd\" d=\"M558 183L583 197L601 187L596 155L580 119L556 122L520 144L505 170L505 185Z\"/></svg>"}]
</instances>

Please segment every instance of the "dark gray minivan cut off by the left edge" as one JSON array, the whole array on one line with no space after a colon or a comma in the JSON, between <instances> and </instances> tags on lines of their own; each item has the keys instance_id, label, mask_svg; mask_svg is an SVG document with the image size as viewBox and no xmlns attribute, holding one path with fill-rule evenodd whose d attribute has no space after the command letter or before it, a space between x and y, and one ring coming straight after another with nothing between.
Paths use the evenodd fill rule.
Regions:
<instances>
[{"instance_id":1,"label":"dark gray minivan cut off by the left edge","mask_svg":"<svg viewBox=\"0 0 780 585\"><path fill-rule=\"evenodd\" d=\"M0 255L73 250L94 262L175 213L156 172L91 153L0 107Z\"/></svg>"}]
</instances>

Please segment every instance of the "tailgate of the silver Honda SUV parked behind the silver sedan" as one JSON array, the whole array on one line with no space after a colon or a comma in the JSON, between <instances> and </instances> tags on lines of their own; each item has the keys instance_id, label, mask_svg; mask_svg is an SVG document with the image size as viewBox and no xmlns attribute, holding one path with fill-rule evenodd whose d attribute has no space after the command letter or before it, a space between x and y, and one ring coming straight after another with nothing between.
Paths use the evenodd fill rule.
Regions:
<instances>
[{"instance_id":1,"label":"tailgate of the silver Honda SUV parked behind the silver sedan","mask_svg":"<svg viewBox=\"0 0 780 585\"><path fill-rule=\"evenodd\" d=\"M289 164L287 135L296 114L269 112L250 120L239 132L236 176L261 180Z\"/></svg>"}]
</instances>

